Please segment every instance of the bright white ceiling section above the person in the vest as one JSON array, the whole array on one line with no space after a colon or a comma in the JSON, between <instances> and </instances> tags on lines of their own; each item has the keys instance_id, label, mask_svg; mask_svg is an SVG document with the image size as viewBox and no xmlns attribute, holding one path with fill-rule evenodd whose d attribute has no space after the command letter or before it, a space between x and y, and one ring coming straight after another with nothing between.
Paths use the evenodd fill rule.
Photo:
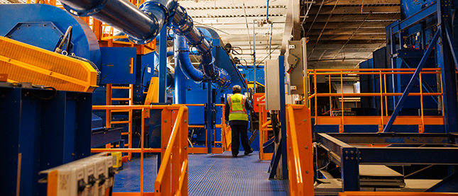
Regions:
<instances>
[{"instance_id":1,"label":"bright white ceiling section above the person in the vest","mask_svg":"<svg viewBox=\"0 0 458 196\"><path fill-rule=\"evenodd\" d=\"M240 47L243 55L234 54L234 57L242 59L243 64L253 64L250 54L253 54L254 47L257 64L264 59L276 59L280 54L288 0L269 1L270 24L261 22L267 19L266 0L187 0L178 3L186 8L196 25L213 28L224 43ZM253 33L256 34L256 42L253 42ZM240 50L236 51L241 53Z\"/></svg>"}]
</instances>

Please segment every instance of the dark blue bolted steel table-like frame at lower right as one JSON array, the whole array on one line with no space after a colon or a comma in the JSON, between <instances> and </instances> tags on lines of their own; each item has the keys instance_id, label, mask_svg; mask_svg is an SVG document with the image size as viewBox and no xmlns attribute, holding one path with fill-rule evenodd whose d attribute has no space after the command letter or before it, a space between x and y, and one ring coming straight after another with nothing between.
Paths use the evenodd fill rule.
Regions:
<instances>
[{"instance_id":1,"label":"dark blue bolted steel table-like frame at lower right","mask_svg":"<svg viewBox=\"0 0 458 196\"><path fill-rule=\"evenodd\" d=\"M450 156L458 154L458 145L449 143L449 138L456 136L424 133L315 134L320 147L327 150L328 157L332 157L329 158L330 161L341 168L343 191L359 190L359 164L458 165L458 156ZM351 144L389 145L359 147ZM427 144L442 144L447 147L428 147ZM421 145L424 147L419 147Z\"/></svg>"}]
</instances>

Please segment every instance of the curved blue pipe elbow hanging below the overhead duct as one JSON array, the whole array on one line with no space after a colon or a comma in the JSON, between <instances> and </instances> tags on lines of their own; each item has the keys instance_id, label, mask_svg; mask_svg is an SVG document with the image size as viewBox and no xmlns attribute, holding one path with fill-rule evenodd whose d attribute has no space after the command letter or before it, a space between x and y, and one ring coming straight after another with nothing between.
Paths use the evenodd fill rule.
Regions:
<instances>
[{"instance_id":1,"label":"curved blue pipe elbow hanging below the overhead duct","mask_svg":"<svg viewBox=\"0 0 458 196\"><path fill-rule=\"evenodd\" d=\"M175 66L179 66L181 71L188 79L192 81L200 82L204 79L204 74L199 69L192 66L188 47L185 38L182 35L175 35L175 42L173 44L175 55L177 56L178 62L175 62Z\"/></svg>"}]
</instances>

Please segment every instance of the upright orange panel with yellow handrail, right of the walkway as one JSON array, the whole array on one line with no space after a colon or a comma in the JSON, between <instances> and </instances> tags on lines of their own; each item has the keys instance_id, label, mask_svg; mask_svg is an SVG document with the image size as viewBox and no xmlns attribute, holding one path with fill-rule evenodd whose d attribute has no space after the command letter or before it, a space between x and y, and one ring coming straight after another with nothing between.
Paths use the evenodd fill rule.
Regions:
<instances>
[{"instance_id":1,"label":"upright orange panel with yellow handrail, right of the walkway","mask_svg":"<svg viewBox=\"0 0 458 196\"><path fill-rule=\"evenodd\" d=\"M310 110L305 105L287 105L286 107L290 194L315 195Z\"/></svg>"}]
</instances>

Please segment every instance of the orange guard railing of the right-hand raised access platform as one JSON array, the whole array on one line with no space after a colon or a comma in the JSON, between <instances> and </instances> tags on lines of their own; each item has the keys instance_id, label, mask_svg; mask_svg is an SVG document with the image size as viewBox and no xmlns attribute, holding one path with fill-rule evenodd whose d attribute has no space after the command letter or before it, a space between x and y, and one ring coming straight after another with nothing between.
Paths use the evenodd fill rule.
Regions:
<instances>
[{"instance_id":1,"label":"orange guard railing of the right-hand raised access platform","mask_svg":"<svg viewBox=\"0 0 458 196\"><path fill-rule=\"evenodd\" d=\"M305 96L304 101L308 101L310 107L314 108L315 111L315 125L339 125L339 132L344 132L344 125L378 125L379 131L383 131L383 125L386 125L390 115L388 115L388 97L402 96L403 92L387 92L387 76L397 76L397 75L413 75L415 69L308 69L307 70L307 80L308 82L308 95ZM440 74L440 68L423 68L419 76L419 93L408 93L408 96L420 96L420 116L400 116L397 117L397 120L394 124L404 125L408 123L409 125L418 125L418 132L424 132L425 125L443 125L442 116L425 116L423 108L423 98L424 96L439 96L442 100L442 92L423 92L425 85L422 81L422 75L425 74L437 74L440 75L440 82L437 85L442 86L442 75ZM332 84L331 77L339 76L340 83L343 83L344 76L361 76L361 75L374 75L374 82L376 82L375 77L378 76L378 89L379 92L371 93L343 93L343 85L340 86L340 93L332 93ZM329 92L328 93L317 93L317 76L328 76L329 82ZM438 80L438 81L439 81ZM310 86L310 83L313 83L313 86ZM329 97L329 116L319 116L318 115L318 106L317 98L318 97ZM340 103L339 107L335 107L333 104L333 97L339 97ZM361 117L352 117L344 116L344 98L345 97L379 97L380 98L380 115L373 117L364 117L364 120ZM311 105L311 100L315 99L315 104ZM396 103L395 103L396 104ZM334 108L334 109L333 109ZM336 109L337 108L337 109ZM334 117L332 116L332 110L340 110L341 116ZM443 105L442 105L443 110Z\"/></svg>"}]
</instances>

